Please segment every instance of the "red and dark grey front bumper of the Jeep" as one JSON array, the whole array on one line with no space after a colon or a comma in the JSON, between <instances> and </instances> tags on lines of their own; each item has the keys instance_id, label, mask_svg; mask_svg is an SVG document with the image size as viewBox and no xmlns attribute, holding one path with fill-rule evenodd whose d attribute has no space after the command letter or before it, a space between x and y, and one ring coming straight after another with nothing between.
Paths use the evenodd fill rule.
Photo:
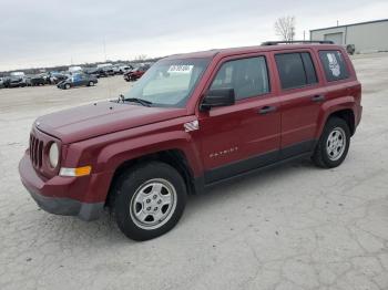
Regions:
<instances>
[{"instance_id":1,"label":"red and dark grey front bumper of the Jeep","mask_svg":"<svg viewBox=\"0 0 388 290\"><path fill-rule=\"evenodd\" d=\"M58 197L55 191L62 193L71 188L75 178L55 177L57 179L42 179L33 168L29 155L24 155L19 164L21 182L43 210L62 216L78 216L83 220L94 220L103 211L104 203L83 203L73 198Z\"/></svg>"}]
</instances>

